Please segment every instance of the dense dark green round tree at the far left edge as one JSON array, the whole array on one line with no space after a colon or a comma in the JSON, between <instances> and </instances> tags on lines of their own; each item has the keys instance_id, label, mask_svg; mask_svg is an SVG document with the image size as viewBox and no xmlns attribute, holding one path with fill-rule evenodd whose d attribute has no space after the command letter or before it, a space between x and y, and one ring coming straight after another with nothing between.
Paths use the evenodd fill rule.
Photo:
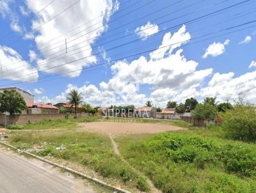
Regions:
<instances>
[{"instance_id":1,"label":"dense dark green round tree at the far left edge","mask_svg":"<svg viewBox=\"0 0 256 193\"><path fill-rule=\"evenodd\" d=\"M24 98L15 90L5 90L0 93L0 112L9 112L10 115L21 113L27 108Z\"/></svg>"}]
</instances>

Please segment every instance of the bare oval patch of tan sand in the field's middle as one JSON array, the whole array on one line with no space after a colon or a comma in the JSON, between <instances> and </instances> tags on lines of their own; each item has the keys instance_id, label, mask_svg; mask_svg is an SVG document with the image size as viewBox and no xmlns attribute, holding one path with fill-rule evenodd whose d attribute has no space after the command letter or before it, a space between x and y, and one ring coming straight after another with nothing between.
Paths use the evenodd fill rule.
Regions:
<instances>
[{"instance_id":1,"label":"bare oval patch of tan sand in the field's middle","mask_svg":"<svg viewBox=\"0 0 256 193\"><path fill-rule=\"evenodd\" d=\"M79 123L79 130L106 134L153 134L166 131L183 130L184 128L160 123Z\"/></svg>"}]
</instances>

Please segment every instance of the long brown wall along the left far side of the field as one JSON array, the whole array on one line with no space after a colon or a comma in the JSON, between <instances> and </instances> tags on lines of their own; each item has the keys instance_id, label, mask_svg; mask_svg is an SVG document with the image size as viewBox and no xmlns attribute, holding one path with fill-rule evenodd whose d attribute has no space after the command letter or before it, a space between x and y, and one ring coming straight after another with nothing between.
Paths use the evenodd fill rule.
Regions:
<instances>
[{"instance_id":1,"label":"long brown wall along the left far side of the field","mask_svg":"<svg viewBox=\"0 0 256 193\"><path fill-rule=\"evenodd\" d=\"M87 112L77 114L77 118L86 116L90 116L90 114ZM42 120L56 120L64 118L65 114L0 114L0 125L6 127L6 125L24 125L29 121L31 121L31 123L38 123Z\"/></svg>"}]
</instances>

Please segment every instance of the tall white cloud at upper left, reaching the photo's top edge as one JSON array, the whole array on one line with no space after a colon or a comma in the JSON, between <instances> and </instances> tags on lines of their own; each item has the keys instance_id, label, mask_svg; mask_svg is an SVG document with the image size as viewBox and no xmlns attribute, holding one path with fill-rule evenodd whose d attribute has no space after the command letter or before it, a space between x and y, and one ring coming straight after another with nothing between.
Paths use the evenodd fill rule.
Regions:
<instances>
[{"instance_id":1,"label":"tall white cloud at upper left, reaching the photo's top edge","mask_svg":"<svg viewBox=\"0 0 256 193\"><path fill-rule=\"evenodd\" d=\"M42 54L42 58L38 59L39 70L46 70L45 72L47 73L66 73L65 75L69 77L77 77L81 73L81 70L79 69L83 68L84 66L93 65L93 63L97 62L96 56L91 56L92 44L95 42L97 37L100 36L102 32L107 29L109 17L111 17L111 15L116 12L116 10L118 10L119 3L118 1L114 2L112 0L80 1L79 3L68 9L65 14L61 14L56 17L56 19L47 22L56 14L67 8L67 6L75 2L75 0L54 1L54 3L47 6L47 9L45 9L44 12L40 12L38 14L36 20L33 20L32 28L34 29L34 31L36 30L38 32L38 35L35 36L36 47ZM27 1L28 9L33 13L37 13L47 3L49 3L48 0ZM99 17L99 15L102 16ZM96 17L98 17L98 19L93 20ZM36 28L44 24L44 22L47 22L47 24L43 25L42 27ZM84 25L83 27L79 27L79 29L72 31L67 35L61 36L61 38L52 40L52 38L63 35L63 33L70 31L70 29L74 29L75 27L81 26L87 22L88 24ZM79 35L69 38L70 36L77 34L79 31L82 31L81 33L79 33ZM78 36L81 36L81 38L74 40ZM25 36L25 38L30 37ZM61 56L62 58L60 57L60 60L50 62L49 59L52 58L52 54L55 54L56 52L59 52L60 54L65 53L65 44L63 45L63 43L65 42L66 38L68 54L74 55L68 56L66 58L63 58L65 56ZM63 40L64 42L60 42L61 40ZM79 43L79 45L76 45L77 43ZM56 46L59 45L63 46L54 49ZM47 51L50 49L52 50ZM72 51L73 49L76 49L76 51ZM77 52L79 52L79 54L75 54ZM80 58L84 59L76 61L76 63L69 63L68 65L58 66ZM47 70L47 68L51 69ZM77 71L67 73L72 70Z\"/></svg>"}]
</instances>

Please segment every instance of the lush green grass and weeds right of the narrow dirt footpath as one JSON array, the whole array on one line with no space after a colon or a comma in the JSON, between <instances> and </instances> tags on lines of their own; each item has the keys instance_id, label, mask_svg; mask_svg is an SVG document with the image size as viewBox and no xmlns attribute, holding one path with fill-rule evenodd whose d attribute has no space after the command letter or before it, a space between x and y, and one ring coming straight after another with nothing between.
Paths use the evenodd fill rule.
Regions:
<instances>
[{"instance_id":1,"label":"lush green grass and weeds right of the narrow dirt footpath","mask_svg":"<svg viewBox=\"0 0 256 193\"><path fill-rule=\"evenodd\" d=\"M163 192L256 192L256 145L218 139L215 129L115 141L123 157Z\"/></svg>"}]
</instances>

